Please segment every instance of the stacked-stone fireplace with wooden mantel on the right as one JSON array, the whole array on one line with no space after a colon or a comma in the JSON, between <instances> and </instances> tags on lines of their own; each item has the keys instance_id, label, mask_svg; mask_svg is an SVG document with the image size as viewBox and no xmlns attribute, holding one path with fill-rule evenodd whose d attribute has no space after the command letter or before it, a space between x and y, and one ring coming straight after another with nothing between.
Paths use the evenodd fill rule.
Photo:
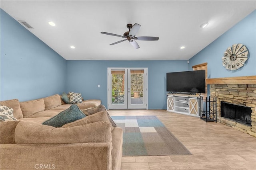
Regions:
<instances>
[{"instance_id":1,"label":"stacked-stone fireplace with wooden mantel on the right","mask_svg":"<svg viewBox=\"0 0 256 170\"><path fill-rule=\"evenodd\" d=\"M210 84L211 98L217 99L217 121L256 137L256 76L210 78L206 79L206 84ZM223 102L249 107L251 125L222 117L221 105L223 104L221 103Z\"/></svg>"}]
</instances>

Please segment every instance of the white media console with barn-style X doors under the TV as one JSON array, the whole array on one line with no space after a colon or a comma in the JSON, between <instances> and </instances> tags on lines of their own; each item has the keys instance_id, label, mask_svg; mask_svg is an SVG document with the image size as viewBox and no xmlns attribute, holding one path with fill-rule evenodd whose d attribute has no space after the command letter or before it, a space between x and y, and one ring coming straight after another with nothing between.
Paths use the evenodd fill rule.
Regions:
<instances>
[{"instance_id":1,"label":"white media console with barn-style X doors under the TV","mask_svg":"<svg viewBox=\"0 0 256 170\"><path fill-rule=\"evenodd\" d=\"M167 94L167 111L200 117L200 95Z\"/></svg>"}]
</instances>

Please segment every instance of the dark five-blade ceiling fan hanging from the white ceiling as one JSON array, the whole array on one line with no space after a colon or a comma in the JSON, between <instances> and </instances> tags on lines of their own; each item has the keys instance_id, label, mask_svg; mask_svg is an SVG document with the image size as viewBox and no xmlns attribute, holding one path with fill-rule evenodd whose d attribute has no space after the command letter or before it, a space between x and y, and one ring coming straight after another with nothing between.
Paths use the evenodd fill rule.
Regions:
<instances>
[{"instance_id":1,"label":"dark five-blade ceiling fan hanging from the white ceiling","mask_svg":"<svg viewBox=\"0 0 256 170\"><path fill-rule=\"evenodd\" d=\"M126 39L123 39L121 41L117 41L115 43L112 43L110 45L115 45L115 44L122 43L122 42L128 40L129 43L134 48L136 48L136 49L140 48L140 46L134 40L157 41L159 39L159 37L135 37L136 33L140 29L140 24L138 24L138 23L135 23L133 26L132 26L132 24L128 23L126 25L126 27L129 29L129 31L125 32L123 36L122 35L113 34L113 33L106 33L106 32L101 32L101 33L102 34L106 34L106 35L113 35L113 36L116 36L116 37L126 38Z\"/></svg>"}]
</instances>

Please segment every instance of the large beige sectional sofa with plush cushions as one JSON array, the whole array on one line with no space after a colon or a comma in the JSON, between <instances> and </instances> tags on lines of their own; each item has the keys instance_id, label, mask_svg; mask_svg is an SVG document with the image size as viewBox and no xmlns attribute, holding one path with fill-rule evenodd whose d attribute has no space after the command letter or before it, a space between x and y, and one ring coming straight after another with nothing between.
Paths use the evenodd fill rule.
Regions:
<instances>
[{"instance_id":1,"label":"large beige sectional sofa with plush cushions","mask_svg":"<svg viewBox=\"0 0 256 170\"><path fill-rule=\"evenodd\" d=\"M114 127L100 100L77 104L87 116L57 128L42 123L71 106L58 94L26 102L6 100L1 104L13 108L18 119L0 122L1 170L120 169L122 129Z\"/></svg>"}]
</instances>

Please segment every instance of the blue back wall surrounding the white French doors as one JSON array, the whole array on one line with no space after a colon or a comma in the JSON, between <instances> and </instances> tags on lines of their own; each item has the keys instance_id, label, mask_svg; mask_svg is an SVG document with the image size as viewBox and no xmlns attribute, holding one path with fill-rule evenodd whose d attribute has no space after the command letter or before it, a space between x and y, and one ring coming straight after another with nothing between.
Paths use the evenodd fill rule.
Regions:
<instances>
[{"instance_id":1,"label":"blue back wall surrounding the white French doors","mask_svg":"<svg viewBox=\"0 0 256 170\"><path fill-rule=\"evenodd\" d=\"M187 61L67 61L67 92L80 92L84 99L100 99L107 106L108 67L148 68L148 109L167 108L166 72L188 70Z\"/></svg>"}]
</instances>

